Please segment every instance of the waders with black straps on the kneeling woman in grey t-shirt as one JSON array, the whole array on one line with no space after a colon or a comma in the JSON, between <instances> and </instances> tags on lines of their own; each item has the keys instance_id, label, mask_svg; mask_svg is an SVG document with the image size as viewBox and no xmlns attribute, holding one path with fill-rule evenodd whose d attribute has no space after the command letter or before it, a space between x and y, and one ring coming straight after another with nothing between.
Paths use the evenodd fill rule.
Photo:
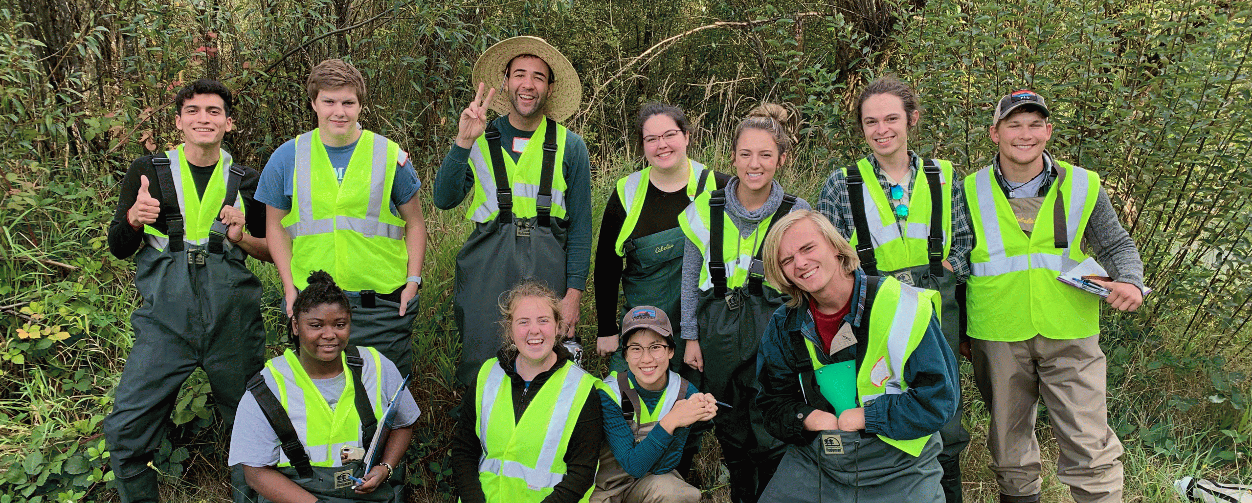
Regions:
<instances>
[{"instance_id":1,"label":"waders with black straps on the kneeling woman in grey t-shirt","mask_svg":"<svg viewBox=\"0 0 1252 503\"><path fill-rule=\"evenodd\" d=\"M348 368L352 372L352 385L354 387L356 402L353 407L357 408L357 417L363 418L361 425L361 438L362 452L369 450L369 439L373 438L374 430L378 428L378 419L374 415L373 405L369 403L369 395L366 390L366 384L361 379L361 373L363 369L363 362L361 357L361 349L354 345L347 347L344 350ZM277 377L275 377L277 378ZM299 434L295 433L295 427L292 424L290 418L287 415L287 410L283 408L278 397L274 392L269 389L265 383L265 378L262 373L255 373L248 379L248 390L252 392L253 398L257 399L257 405L260 407L260 412L265 415L265 420L269 422L270 428L278 435L278 442L283 449L283 455L290 460L290 467L279 467L278 472L287 478L292 479L297 485L308 490L314 497L317 497L318 503L351 503L351 502L396 502L401 500L399 490L389 480L384 480L369 494L357 494L352 490L356 483L349 478L352 477L364 477L366 467L361 460L348 462L339 467L314 467L309 463L308 452L304 450L304 444L299 439ZM318 397L321 398L321 397ZM258 497L259 502L268 502L263 497Z\"/></svg>"}]
</instances>

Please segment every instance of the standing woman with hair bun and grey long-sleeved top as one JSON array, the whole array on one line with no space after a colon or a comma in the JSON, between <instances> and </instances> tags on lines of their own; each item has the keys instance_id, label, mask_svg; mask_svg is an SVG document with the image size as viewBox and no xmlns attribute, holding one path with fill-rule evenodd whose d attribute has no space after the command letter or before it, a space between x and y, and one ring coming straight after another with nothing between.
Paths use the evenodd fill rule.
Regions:
<instances>
[{"instance_id":1,"label":"standing woman with hair bun and grey long-sleeved top","mask_svg":"<svg viewBox=\"0 0 1252 503\"><path fill-rule=\"evenodd\" d=\"M736 176L725 189L697 196L680 216L687 238L682 360L701 373L701 389L731 405L719 410L714 429L736 503L756 502L782 457L782 443L765 432L754 397L761 333L788 299L765 280L761 244L775 220L809 209L774 179L791 155L786 119L777 104L750 111L731 141Z\"/></svg>"}]
</instances>

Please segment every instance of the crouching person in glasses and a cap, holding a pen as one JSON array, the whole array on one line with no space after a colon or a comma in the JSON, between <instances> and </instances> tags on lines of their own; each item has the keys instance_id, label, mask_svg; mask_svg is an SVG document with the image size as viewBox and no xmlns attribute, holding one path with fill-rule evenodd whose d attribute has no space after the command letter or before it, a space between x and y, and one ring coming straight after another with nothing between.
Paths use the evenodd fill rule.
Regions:
<instances>
[{"instance_id":1,"label":"crouching person in glasses and a cap, holding a pen","mask_svg":"<svg viewBox=\"0 0 1252 503\"><path fill-rule=\"evenodd\" d=\"M600 388L605 447L592 503L696 503L700 489L675 469L691 424L717 415L717 400L670 370L674 330L665 310L630 309L622 318L629 370Z\"/></svg>"}]
</instances>

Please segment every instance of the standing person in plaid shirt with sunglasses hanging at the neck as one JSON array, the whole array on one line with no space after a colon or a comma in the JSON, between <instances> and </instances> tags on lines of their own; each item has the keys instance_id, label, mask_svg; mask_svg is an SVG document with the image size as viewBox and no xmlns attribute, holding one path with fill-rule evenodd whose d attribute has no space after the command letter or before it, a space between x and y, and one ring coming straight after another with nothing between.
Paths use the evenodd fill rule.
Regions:
<instances>
[{"instance_id":1,"label":"standing person in plaid shirt with sunglasses hanging at the neck","mask_svg":"<svg viewBox=\"0 0 1252 503\"><path fill-rule=\"evenodd\" d=\"M918 95L908 84L883 76L866 85L856 100L856 121L870 154L830 174L818 211L853 245L865 274L939 292L940 324L955 354L962 324L957 290L969 275L974 233L952 163L909 150L909 134L920 119ZM959 409L940 432L944 495L948 503L960 502L959 455L969 434Z\"/></svg>"}]
</instances>

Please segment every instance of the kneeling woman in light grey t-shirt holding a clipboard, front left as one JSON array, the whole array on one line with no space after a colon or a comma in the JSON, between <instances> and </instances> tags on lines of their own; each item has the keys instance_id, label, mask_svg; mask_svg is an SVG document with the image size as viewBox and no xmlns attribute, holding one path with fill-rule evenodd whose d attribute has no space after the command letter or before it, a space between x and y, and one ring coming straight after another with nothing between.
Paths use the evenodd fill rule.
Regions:
<instances>
[{"instance_id":1,"label":"kneeling woman in light grey t-shirt holding a clipboard, front left","mask_svg":"<svg viewBox=\"0 0 1252 503\"><path fill-rule=\"evenodd\" d=\"M229 463L243 463L262 500L398 502L399 488L386 480L421 410L412 394L399 393L381 462L364 467L387 400L403 379L378 350L348 345L352 309L331 275L319 270L308 283L292 305L297 350L287 349L249 380ZM298 442L288 442L293 438Z\"/></svg>"}]
</instances>

